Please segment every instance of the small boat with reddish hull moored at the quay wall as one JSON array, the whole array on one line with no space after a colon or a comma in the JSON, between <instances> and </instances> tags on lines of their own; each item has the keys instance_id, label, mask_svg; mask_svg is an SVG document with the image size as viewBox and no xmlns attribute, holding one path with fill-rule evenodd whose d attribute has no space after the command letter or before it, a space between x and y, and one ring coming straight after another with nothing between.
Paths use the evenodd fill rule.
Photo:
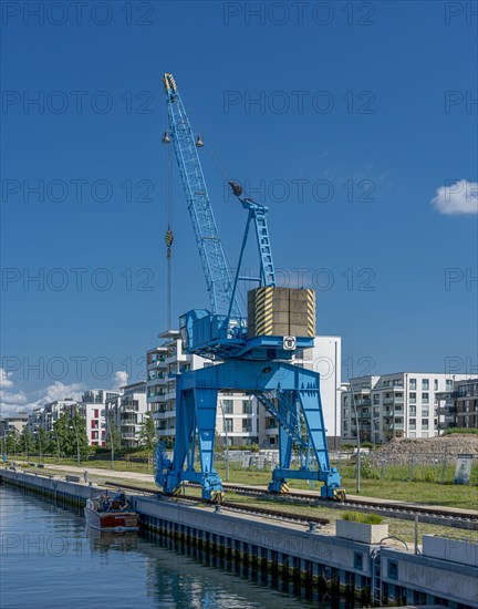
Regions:
<instances>
[{"instance_id":1,"label":"small boat with reddish hull moored at the quay wall","mask_svg":"<svg viewBox=\"0 0 478 609\"><path fill-rule=\"evenodd\" d=\"M124 533L138 530L138 515L126 500L124 493L111 498L106 493L86 500L86 524L98 530Z\"/></svg>"}]
</instances>

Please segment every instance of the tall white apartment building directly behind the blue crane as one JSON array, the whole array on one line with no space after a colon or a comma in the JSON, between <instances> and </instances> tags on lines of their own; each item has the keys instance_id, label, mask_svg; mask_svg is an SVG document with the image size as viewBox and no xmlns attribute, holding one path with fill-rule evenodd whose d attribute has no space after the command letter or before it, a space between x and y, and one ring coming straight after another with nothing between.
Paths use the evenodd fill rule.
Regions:
<instances>
[{"instance_id":1,"label":"tall white apartment building directly behind the blue crane","mask_svg":"<svg viewBox=\"0 0 478 609\"><path fill-rule=\"evenodd\" d=\"M163 343L146 353L147 403L153 412L156 431L167 446L176 430L176 380L174 374L197 370L212 362L184 353L180 333L169 330L159 334ZM294 357L293 363L321 373L321 398L328 437L332 446L340 440L341 410L341 339L316 337L314 347ZM269 416L256 399L240 392L222 392L218 399L216 433L219 444L226 437L231 446L278 445L277 421Z\"/></svg>"}]
</instances>

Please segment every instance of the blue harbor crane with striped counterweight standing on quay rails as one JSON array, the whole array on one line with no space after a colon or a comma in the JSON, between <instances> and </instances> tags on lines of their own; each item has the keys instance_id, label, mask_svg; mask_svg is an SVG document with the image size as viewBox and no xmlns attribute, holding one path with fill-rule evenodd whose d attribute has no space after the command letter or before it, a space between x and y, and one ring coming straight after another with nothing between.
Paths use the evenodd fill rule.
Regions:
<instances>
[{"instance_id":1,"label":"blue harbor crane with striped counterweight standing on quay rails","mask_svg":"<svg viewBox=\"0 0 478 609\"><path fill-rule=\"evenodd\" d=\"M206 188L195 136L173 74L165 74L168 131L206 278L210 310L193 309L180 317L186 353L214 365L176 375L176 436L173 460L164 446L156 448L155 479L166 494L177 494L184 482L198 483L202 498L220 502L222 482L214 467L219 392L254 396L279 429L279 464L269 484L271 493L287 493L288 479L322 482L324 498L343 499L339 472L331 467L320 396L320 375L293 365L292 357L312 349L315 337L315 292L278 288L267 223L268 208L245 196L230 180L233 195L248 211L235 276L226 262ZM253 225L253 230L251 229ZM243 255L254 233L259 259L257 277L242 275ZM253 281L248 310L240 310L240 281ZM299 467L291 467L292 450ZM196 463L198 448L199 463Z\"/></svg>"}]
</instances>

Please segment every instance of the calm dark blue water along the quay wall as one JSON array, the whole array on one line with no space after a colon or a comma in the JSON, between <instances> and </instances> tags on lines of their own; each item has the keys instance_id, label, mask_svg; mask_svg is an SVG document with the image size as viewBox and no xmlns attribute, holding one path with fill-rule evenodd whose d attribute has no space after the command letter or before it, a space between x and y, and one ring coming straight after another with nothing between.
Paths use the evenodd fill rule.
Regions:
<instances>
[{"instance_id":1,"label":"calm dark blue water along the quay wall","mask_svg":"<svg viewBox=\"0 0 478 609\"><path fill-rule=\"evenodd\" d=\"M9 486L0 518L1 609L312 607Z\"/></svg>"}]
</instances>

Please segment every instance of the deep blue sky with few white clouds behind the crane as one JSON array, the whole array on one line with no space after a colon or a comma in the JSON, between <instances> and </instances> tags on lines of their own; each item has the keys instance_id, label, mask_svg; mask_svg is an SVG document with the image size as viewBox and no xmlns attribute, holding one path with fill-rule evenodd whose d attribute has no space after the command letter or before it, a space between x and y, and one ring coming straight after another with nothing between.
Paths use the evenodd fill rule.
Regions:
<instances>
[{"instance_id":1,"label":"deep blue sky with few white clouds behind the crane","mask_svg":"<svg viewBox=\"0 0 478 609\"><path fill-rule=\"evenodd\" d=\"M37 4L2 6L7 410L141 378L165 329L165 71L231 264L210 149L346 370L477 371L476 3ZM207 293L176 167L174 233L177 317Z\"/></svg>"}]
</instances>

